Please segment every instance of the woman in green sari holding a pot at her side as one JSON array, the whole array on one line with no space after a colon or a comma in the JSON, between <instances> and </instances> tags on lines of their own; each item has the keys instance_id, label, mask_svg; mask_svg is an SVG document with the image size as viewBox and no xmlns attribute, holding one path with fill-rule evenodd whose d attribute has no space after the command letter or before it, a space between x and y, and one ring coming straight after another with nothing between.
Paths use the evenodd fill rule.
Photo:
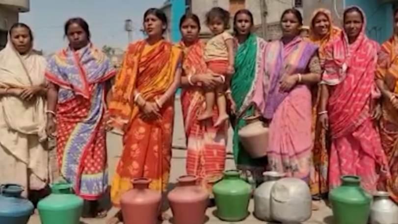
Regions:
<instances>
[{"instance_id":1,"label":"woman in green sari holding a pot at her side","mask_svg":"<svg viewBox=\"0 0 398 224\"><path fill-rule=\"evenodd\" d=\"M266 158L252 159L239 141L238 131L246 125L243 119L254 115L256 109L253 104L254 89L262 88L264 83L265 40L257 37L253 28L253 15L249 10L239 10L234 17L235 37L238 49L235 56L235 74L231 80L231 111L234 113L232 124L234 127L233 151L237 168L246 177L252 176L257 184L263 179ZM257 91L259 92L259 91ZM256 96L256 104L264 103L263 96ZM259 101L259 102L257 102Z\"/></svg>"}]
</instances>

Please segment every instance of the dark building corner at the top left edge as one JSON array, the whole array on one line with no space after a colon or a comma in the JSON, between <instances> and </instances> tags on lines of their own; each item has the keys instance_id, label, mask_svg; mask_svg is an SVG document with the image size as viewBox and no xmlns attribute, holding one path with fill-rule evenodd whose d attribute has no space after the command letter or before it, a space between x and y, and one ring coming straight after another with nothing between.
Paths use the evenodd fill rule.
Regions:
<instances>
[{"instance_id":1,"label":"dark building corner at the top left edge","mask_svg":"<svg viewBox=\"0 0 398 224\"><path fill-rule=\"evenodd\" d=\"M29 11L29 0L0 0L0 50L7 43L7 31L16 22L20 12Z\"/></svg>"}]
</instances>

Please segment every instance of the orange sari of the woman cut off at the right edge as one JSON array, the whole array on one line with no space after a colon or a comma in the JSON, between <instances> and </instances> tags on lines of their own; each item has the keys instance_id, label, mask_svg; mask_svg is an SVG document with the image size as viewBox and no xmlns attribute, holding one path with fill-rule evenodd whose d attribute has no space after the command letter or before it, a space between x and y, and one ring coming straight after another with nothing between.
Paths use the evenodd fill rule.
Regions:
<instances>
[{"instance_id":1,"label":"orange sari of the woman cut off at the right edge","mask_svg":"<svg viewBox=\"0 0 398 224\"><path fill-rule=\"evenodd\" d=\"M398 94L398 37L394 35L384 42L378 54L376 79L382 80L389 91ZM380 137L386 153L391 178L387 180L387 190L398 203L398 110L390 99L381 99Z\"/></svg>"}]
</instances>

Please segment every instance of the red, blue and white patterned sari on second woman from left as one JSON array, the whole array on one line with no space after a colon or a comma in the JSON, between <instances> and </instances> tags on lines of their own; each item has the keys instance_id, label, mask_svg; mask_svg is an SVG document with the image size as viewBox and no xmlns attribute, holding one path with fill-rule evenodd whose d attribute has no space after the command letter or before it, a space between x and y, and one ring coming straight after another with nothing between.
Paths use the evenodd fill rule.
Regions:
<instances>
[{"instance_id":1,"label":"red, blue and white patterned sari on second woman from left","mask_svg":"<svg viewBox=\"0 0 398 224\"><path fill-rule=\"evenodd\" d=\"M106 81L115 75L109 59L92 44L66 48L49 60L46 78L59 86L56 148L61 175L77 195L97 200L106 191Z\"/></svg>"}]
</instances>

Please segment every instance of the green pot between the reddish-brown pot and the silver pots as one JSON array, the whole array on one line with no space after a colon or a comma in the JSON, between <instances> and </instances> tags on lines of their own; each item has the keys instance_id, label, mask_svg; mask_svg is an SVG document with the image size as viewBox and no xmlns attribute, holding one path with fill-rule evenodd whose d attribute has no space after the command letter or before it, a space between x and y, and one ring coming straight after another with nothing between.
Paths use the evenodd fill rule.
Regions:
<instances>
[{"instance_id":1,"label":"green pot between the reddish-brown pot and the silver pots","mask_svg":"<svg viewBox=\"0 0 398 224\"><path fill-rule=\"evenodd\" d=\"M228 222L244 220L249 214L251 192L250 184L240 179L238 170L225 171L223 179L213 186L216 216Z\"/></svg>"}]
</instances>

